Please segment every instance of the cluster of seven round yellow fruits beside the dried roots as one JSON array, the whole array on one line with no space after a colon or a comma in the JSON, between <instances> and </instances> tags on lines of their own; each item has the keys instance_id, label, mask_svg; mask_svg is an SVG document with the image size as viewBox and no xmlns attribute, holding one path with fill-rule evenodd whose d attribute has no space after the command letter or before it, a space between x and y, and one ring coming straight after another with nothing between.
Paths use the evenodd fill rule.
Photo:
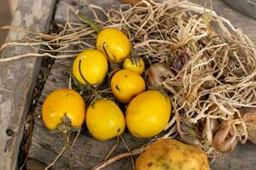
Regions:
<instances>
[{"instance_id":1,"label":"cluster of seven round yellow fruits beside the dried roots","mask_svg":"<svg viewBox=\"0 0 256 170\"><path fill-rule=\"evenodd\" d=\"M171 101L158 90L146 91L141 76L143 59L130 57L131 42L122 31L106 28L96 39L96 49L86 49L73 62L73 77L82 85L96 87L104 82L108 62L121 64L113 74L110 87L115 99L127 105L125 115L111 99L98 99L86 108L84 99L71 89L59 89L45 99L42 117L50 130L69 131L82 127L84 120L93 137L113 139L125 130L125 124L137 138L150 138L160 133L171 115Z\"/></svg>"}]
</instances>

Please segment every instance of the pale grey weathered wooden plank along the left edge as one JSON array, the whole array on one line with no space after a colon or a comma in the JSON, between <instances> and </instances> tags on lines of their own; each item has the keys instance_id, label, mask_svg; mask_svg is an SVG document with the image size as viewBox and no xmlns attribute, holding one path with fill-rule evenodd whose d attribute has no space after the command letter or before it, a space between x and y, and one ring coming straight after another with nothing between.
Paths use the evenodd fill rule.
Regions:
<instances>
[{"instance_id":1,"label":"pale grey weathered wooden plank along the left edge","mask_svg":"<svg viewBox=\"0 0 256 170\"><path fill-rule=\"evenodd\" d=\"M12 26L37 32L47 32L55 0L20 0ZM20 41L26 34L9 31L8 41ZM3 58L38 53L26 47L12 47L3 51ZM0 169L15 169L23 135L26 113L38 75L40 59L19 59L0 63ZM9 133L7 133L9 132Z\"/></svg>"}]
</instances>

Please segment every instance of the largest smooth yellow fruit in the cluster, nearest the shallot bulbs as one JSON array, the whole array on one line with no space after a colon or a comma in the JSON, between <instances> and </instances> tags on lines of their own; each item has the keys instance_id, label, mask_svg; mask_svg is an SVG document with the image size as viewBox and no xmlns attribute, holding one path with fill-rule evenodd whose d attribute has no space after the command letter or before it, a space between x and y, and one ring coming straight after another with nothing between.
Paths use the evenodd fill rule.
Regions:
<instances>
[{"instance_id":1,"label":"largest smooth yellow fruit in the cluster, nearest the shallot bulbs","mask_svg":"<svg viewBox=\"0 0 256 170\"><path fill-rule=\"evenodd\" d=\"M150 138L160 133L171 115L171 102L156 90L139 94L126 109L126 125L137 138Z\"/></svg>"}]
</instances>

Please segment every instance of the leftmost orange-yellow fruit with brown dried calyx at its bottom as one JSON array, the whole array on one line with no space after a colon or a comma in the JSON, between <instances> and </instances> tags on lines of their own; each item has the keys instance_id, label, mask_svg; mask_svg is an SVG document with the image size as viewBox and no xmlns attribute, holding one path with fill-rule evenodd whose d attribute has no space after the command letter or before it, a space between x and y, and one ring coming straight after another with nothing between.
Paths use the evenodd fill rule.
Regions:
<instances>
[{"instance_id":1,"label":"leftmost orange-yellow fruit with brown dried calyx at its bottom","mask_svg":"<svg viewBox=\"0 0 256 170\"><path fill-rule=\"evenodd\" d=\"M84 99L71 89L55 90L44 100L42 118L49 130L55 130L61 123L67 123L67 118L72 127L82 127L84 117Z\"/></svg>"}]
</instances>

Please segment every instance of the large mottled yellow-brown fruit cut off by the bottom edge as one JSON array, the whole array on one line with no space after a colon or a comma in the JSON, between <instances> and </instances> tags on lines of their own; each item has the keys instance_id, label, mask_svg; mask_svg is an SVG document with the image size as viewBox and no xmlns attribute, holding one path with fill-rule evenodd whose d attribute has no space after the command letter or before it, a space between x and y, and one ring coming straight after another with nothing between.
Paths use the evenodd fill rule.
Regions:
<instances>
[{"instance_id":1,"label":"large mottled yellow-brown fruit cut off by the bottom edge","mask_svg":"<svg viewBox=\"0 0 256 170\"><path fill-rule=\"evenodd\" d=\"M137 170L210 170L207 155L198 146L175 139L158 139L136 161Z\"/></svg>"}]
</instances>

